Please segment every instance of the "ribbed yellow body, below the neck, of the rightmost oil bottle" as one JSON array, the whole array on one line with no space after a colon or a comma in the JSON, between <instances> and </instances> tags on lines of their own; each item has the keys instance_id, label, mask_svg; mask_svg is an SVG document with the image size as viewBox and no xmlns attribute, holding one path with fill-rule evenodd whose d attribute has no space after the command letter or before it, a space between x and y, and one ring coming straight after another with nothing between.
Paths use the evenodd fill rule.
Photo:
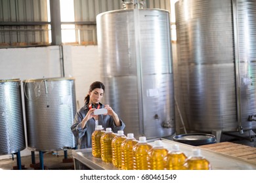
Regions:
<instances>
[{"instance_id":1,"label":"ribbed yellow body, below the neck, of the rightmost oil bottle","mask_svg":"<svg viewBox=\"0 0 256 183\"><path fill-rule=\"evenodd\" d=\"M187 159L184 167L187 170L211 170L211 164L203 157L192 157Z\"/></svg>"}]
</instances>

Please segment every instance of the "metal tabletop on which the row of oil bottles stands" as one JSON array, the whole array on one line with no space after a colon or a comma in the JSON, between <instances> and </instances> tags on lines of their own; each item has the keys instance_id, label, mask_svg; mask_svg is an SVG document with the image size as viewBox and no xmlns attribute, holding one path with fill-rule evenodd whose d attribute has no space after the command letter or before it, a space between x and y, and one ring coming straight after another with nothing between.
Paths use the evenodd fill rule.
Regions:
<instances>
[{"instance_id":1,"label":"metal tabletop on which the row of oil bottles stands","mask_svg":"<svg viewBox=\"0 0 256 183\"><path fill-rule=\"evenodd\" d=\"M163 141L164 147L167 150L171 150L173 144L179 144L180 150L186 154L186 156L192 155L193 148L200 148L202 155L209 160L213 170L256 170L256 163L248 159L230 156L213 150L207 150L200 146L190 146L188 144L182 144L167 139L160 139ZM148 142L154 144L153 141ZM100 158L95 158L91 155L91 148L72 150L72 155L75 161L79 161L86 165L90 169L95 170L117 170L112 163L105 163Z\"/></svg>"}]
</instances>

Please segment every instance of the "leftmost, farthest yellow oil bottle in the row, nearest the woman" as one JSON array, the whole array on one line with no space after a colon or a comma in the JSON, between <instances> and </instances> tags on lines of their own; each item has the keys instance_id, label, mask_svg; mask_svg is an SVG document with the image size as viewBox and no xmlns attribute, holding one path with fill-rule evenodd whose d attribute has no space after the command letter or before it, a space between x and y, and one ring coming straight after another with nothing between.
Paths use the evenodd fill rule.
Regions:
<instances>
[{"instance_id":1,"label":"leftmost, farthest yellow oil bottle in the row, nearest the woman","mask_svg":"<svg viewBox=\"0 0 256 183\"><path fill-rule=\"evenodd\" d=\"M91 135L92 141L92 154L96 158L101 158L101 148L100 148L100 137L104 134L102 125L97 125L95 131Z\"/></svg>"}]
</instances>

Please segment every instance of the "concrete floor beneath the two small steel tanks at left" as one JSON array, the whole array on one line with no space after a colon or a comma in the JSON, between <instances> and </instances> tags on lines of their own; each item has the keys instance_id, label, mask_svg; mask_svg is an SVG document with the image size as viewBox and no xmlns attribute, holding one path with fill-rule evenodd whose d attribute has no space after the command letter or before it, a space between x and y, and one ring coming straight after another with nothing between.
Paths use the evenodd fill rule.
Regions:
<instances>
[{"instance_id":1,"label":"concrete floor beneath the two small steel tanks at left","mask_svg":"<svg viewBox=\"0 0 256 183\"><path fill-rule=\"evenodd\" d=\"M32 156L22 156L21 158L22 169L26 170L37 170L40 169L40 158L39 155L35 155L35 163L32 163ZM64 153L56 155L54 152L45 152L43 154L43 164L45 170L54 169L74 169L74 162L72 152L68 150L68 156L64 158ZM17 159L14 155L14 159L1 159L0 170L15 170L17 169Z\"/></svg>"}]
</instances>

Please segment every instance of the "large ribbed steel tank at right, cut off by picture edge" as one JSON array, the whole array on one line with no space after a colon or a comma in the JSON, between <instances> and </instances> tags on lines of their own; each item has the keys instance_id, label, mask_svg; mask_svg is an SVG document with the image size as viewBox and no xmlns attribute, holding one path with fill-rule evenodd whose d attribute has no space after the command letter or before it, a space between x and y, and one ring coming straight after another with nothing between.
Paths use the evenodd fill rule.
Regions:
<instances>
[{"instance_id":1,"label":"large ribbed steel tank at right, cut off by picture edge","mask_svg":"<svg viewBox=\"0 0 256 183\"><path fill-rule=\"evenodd\" d=\"M256 1L175 3L179 105L190 131L255 129Z\"/></svg>"}]
</instances>

